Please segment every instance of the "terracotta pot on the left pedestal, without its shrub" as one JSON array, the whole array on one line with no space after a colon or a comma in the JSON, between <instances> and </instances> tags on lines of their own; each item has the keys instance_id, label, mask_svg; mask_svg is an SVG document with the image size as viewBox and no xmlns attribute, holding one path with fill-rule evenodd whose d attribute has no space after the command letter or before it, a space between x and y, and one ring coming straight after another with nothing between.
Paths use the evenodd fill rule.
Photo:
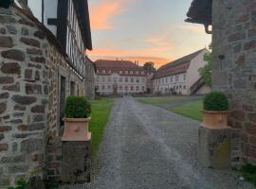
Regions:
<instances>
[{"instance_id":1,"label":"terracotta pot on the left pedestal, without its shrub","mask_svg":"<svg viewBox=\"0 0 256 189\"><path fill-rule=\"evenodd\" d=\"M88 131L88 123L91 118L63 118L64 135L62 141L89 141L91 133Z\"/></svg>"}]
</instances>

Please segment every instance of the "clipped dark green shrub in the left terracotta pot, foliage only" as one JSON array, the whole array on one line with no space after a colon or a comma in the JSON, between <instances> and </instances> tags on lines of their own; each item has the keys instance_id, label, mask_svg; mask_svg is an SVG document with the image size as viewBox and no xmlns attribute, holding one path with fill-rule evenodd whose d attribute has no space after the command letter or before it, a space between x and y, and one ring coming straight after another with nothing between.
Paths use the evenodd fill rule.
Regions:
<instances>
[{"instance_id":1,"label":"clipped dark green shrub in the left terracotta pot, foliage only","mask_svg":"<svg viewBox=\"0 0 256 189\"><path fill-rule=\"evenodd\" d=\"M87 118L91 114L91 104L83 96L70 95L65 101L64 114L67 118Z\"/></svg>"}]
</instances>

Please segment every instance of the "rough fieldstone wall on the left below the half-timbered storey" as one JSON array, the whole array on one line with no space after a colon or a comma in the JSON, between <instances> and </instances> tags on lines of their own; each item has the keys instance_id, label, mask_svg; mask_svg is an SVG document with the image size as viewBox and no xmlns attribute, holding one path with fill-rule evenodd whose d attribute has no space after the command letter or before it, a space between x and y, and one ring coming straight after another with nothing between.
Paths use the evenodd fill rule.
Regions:
<instances>
[{"instance_id":1,"label":"rough fieldstone wall on the left below the half-timbered storey","mask_svg":"<svg viewBox=\"0 0 256 189\"><path fill-rule=\"evenodd\" d=\"M66 96L71 81L80 95L94 81L73 72L56 38L33 16L0 9L0 188L60 175L60 77Z\"/></svg>"}]
</instances>

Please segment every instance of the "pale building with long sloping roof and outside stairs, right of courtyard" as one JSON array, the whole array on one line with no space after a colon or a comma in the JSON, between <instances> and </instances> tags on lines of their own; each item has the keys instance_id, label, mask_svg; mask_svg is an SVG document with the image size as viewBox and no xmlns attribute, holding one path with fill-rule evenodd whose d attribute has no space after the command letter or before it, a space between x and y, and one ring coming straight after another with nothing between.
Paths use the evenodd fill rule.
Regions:
<instances>
[{"instance_id":1,"label":"pale building with long sloping roof and outside stairs, right of courtyard","mask_svg":"<svg viewBox=\"0 0 256 189\"><path fill-rule=\"evenodd\" d=\"M204 85L199 75L199 68L207 62L203 60L208 53L202 49L179 60L163 65L153 78L155 94L207 94L210 87Z\"/></svg>"}]
</instances>

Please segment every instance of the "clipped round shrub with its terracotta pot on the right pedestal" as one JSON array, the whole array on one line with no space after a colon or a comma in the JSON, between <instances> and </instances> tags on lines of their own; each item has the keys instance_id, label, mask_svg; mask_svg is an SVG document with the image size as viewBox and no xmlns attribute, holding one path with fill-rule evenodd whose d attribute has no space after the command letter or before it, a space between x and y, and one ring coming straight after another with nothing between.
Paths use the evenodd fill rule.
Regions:
<instances>
[{"instance_id":1,"label":"clipped round shrub with its terracotta pot on the right pedestal","mask_svg":"<svg viewBox=\"0 0 256 189\"><path fill-rule=\"evenodd\" d=\"M210 129L228 128L229 100L223 92L210 92L204 98L203 126Z\"/></svg>"}]
</instances>

